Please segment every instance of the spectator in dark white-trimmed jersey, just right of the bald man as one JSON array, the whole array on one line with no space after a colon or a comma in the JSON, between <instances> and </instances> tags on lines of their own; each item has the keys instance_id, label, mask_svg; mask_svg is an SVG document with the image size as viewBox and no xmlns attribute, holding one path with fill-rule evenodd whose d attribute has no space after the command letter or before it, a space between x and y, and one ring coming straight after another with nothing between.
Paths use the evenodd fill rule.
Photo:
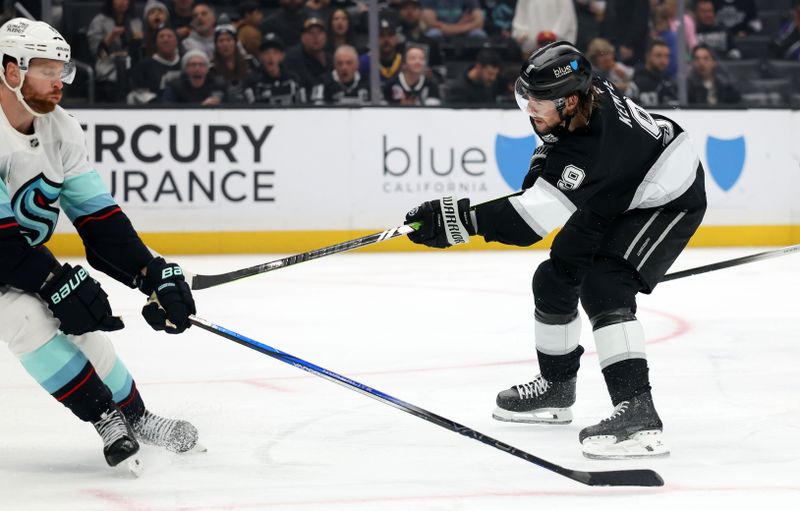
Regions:
<instances>
[{"instance_id":1,"label":"spectator in dark white-trimmed jersey, just right of the bald man","mask_svg":"<svg viewBox=\"0 0 800 511\"><path fill-rule=\"evenodd\" d=\"M390 105L436 106L441 104L439 84L429 78L425 49L406 46L403 70L383 86L383 97Z\"/></svg>"}]
</instances>

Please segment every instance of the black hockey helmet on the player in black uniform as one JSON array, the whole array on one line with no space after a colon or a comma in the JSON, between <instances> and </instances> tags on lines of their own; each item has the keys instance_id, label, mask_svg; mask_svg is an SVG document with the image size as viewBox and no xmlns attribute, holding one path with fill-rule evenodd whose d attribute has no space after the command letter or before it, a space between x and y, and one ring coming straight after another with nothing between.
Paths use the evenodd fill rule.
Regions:
<instances>
[{"instance_id":1,"label":"black hockey helmet on the player in black uniform","mask_svg":"<svg viewBox=\"0 0 800 511\"><path fill-rule=\"evenodd\" d=\"M574 92L585 94L591 85L589 60L567 41L556 41L528 57L519 73L517 92L531 98L555 100Z\"/></svg>"}]
</instances>

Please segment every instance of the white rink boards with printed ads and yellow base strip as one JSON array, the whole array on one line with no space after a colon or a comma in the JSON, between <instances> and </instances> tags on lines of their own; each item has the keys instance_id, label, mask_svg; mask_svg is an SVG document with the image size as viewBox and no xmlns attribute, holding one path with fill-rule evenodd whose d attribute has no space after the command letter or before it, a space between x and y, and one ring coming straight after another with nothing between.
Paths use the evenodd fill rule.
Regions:
<instances>
[{"instance_id":1,"label":"white rink boards with printed ads and yellow base strip","mask_svg":"<svg viewBox=\"0 0 800 511\"><path fill-rule=\"evenodd\" d=\"M442 195L504 196L540 143L517 110L72 113L117 202L166 253L304 251L402 224L405 211ZM800 242L800 112L661 113L690 133L706 168L709 210L694 246ZM82 253L61 220L50 245ZM405 239L374 248L414 249Z\"/></svg>"}]
</instances>

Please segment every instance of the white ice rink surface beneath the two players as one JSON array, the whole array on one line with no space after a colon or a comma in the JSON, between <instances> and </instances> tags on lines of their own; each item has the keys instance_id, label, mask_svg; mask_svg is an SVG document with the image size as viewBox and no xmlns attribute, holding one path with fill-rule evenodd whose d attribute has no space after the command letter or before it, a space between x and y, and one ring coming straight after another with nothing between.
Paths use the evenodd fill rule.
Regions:
<instances>
[{"instance_id":1,"label":"white ice rink surface beneath the two players","mask_svg":"<svg viewBox=\"0 0 800 511\"><path fill-rule=\"evenodd\" d=\"M673 270L760 252L690 250ZM800 255L641 296L654 397L672 456L584 459L578 431L611 404L591 328L575 420L491 418L537 372L530 280L546 252L346 254L197 291L198 316L560 465L652 468L659 489L589 488L199 328L152 332L143 297L102 278L113 334L148 407L208 448L144 446L139 479L109 469L94 429L0 352L0 509L795 509L800 503ZM274 255L179 257L219 273ZM98 276L98 272L93 273Z\"/></svg>"}]
</instances>

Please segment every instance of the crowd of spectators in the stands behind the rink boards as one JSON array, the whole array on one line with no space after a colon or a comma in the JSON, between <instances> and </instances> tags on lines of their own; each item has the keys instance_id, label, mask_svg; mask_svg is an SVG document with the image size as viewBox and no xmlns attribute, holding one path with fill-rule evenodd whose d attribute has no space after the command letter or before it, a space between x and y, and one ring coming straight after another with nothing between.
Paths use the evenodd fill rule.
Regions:
<instances>
[{"instance_id":1,"label":"crowd of spectators in the stands behind the rink boards","mask_svg":"<svg viewBox=\"0 0 800 511\"><path fill-rule=\"evenodd\" d=\"M690 105L800 105L800 0L384 0L379 98L364 1L54 3L93 70L74 102L93 80L98 103L513 105L527 55L565 39L648 107L679 104L681 61Z\"/></svg>"}]
</instances>

